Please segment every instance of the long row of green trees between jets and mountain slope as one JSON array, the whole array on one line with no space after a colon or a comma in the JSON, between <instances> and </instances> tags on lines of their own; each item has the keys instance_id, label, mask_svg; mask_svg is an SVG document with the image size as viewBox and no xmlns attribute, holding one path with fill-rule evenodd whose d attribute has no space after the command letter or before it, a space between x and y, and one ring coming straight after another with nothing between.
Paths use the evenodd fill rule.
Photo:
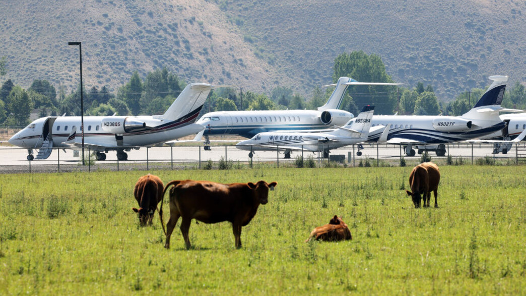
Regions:
<instances>
[{"instance_id":1,"label":"long row of green trees between jets and mountain slope","mask_svg":"<svg viewBox=\"0 0 526 296\"><path fill-rule=\"evenodd\" d=\"M6 75L6 58L0 57L0 78ZM342 53L336 57L332 80L352 77L360 82L393 83L380 56L362 51ZM92 86L83 90L85 115L151 115L163 114L186 86L176 73L157 68L141 78L135 71L129 81L115 93L107 85ZM243 88L224 87L211 92L201 115L211 111L236 110L315 110L325 104L333 88L323 90L317 86L309 97L292 91L287 86L277 86L270 95ZM439 102L432 85L418 82L414 87L405 86L349 86L340 107L357 114L364 105L375 105L375 114L400 115L461 115L470 110L485 90L473 88L460 93L449 103ZM38 110L39 117L62 114L80 115L80 86L69 94L62 85L55 86L46 80L34 80L25 90L10 79L0 88L0 125L23 126L29 115ZM507 90L503 107L526 109L526 89L517 82Z\"/></svg>"}]
</instances>

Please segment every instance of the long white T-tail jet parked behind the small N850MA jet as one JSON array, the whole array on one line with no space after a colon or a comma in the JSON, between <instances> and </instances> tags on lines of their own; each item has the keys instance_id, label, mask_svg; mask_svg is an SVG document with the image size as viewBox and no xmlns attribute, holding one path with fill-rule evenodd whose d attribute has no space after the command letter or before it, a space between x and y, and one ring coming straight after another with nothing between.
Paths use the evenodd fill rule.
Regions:
<instances>
[{"instance_id":1,"label":"long white T-tail jet parked behind the small N850MA jet","mask_svg":"<svg viewBox=\"0 0 526 296\"><path fill-rule=\"evenodd\" d=\"M333 125L346 124L354 115L338 110L349 85L401 85L402 83L358 82L349 77L340 77L327 103L317 110L271 110L271 111L218 111L210 112L197 123L205 126L195 140L205 136L205 145L210 144L210 135L240 135L250 138L261 132L309 131L332 129ZM210 146L205 146L210 150Z\"/></svg>"}]
</instances>

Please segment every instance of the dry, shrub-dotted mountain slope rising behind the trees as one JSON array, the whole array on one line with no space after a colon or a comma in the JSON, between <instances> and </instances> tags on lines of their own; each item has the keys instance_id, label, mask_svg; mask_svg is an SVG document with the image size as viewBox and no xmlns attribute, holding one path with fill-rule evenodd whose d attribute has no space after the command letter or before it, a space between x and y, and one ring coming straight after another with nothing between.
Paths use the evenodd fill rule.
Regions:
<instances>
[{"instance_id":1,"label":"dry, shrub-dotted mountain slope rising behind the trees","mask_svg":"<svg viewBox=\"0 0 526 296\"><path fill-rule=\"evenodd\" d=\"M187 82L307 94L342 52L378 54L397 82L451 100L489 75L526 81L526 2L43 0L0 3L0 56L15 84L114 89L166 66Z\"/></svg>"}]
</instances>

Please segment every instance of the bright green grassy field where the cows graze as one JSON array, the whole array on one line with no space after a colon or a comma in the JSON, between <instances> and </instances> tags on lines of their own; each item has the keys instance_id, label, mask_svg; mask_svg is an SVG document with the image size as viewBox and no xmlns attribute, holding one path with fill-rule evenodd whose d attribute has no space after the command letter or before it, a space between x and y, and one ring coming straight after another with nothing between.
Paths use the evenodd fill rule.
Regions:
<instances>
[{"instance_id":1,"label":"bright green grassy field where the cows graze","mask_svg":"<svg viewBox=\"0 0 526 296\"><path fill-rule=\"evenodd\" d=\"M439 209L413 208L410 170L152 171L278 182L242 249L229 223L193 222L189 251L178 226L163 248L157 214L138 226L145 172L3 174L0 294L523 294L526 166L441 166ZM335 214L352 241L304 242Z\"/></svg>"}]
</instances>

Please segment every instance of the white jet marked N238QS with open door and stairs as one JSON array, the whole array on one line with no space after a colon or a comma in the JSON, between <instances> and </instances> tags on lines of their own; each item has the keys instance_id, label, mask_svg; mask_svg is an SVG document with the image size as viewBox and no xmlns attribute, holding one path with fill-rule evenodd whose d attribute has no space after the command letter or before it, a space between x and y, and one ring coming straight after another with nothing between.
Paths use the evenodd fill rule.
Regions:
<instances>
[{"instance_id":1,"label":"white jet marked N238QS with open door and stairs","mask_svg":"<svg viewBox=\"0 0 526 296\"><path fill-rule=\"evenodd\" d=\"M110 150L118 160L127 160L125 151L151 146L179 137L199 133L203 125L194 123L213 85L188 84L163 115L153 116L84 116L84 146L105 160ZM81 132L77 132L78 130ZM39 118L16 133L9 143L27 148L27 160L47 159L53 147L82 147L80 116L47 116Z\"/></svg>"}]
</instances>

